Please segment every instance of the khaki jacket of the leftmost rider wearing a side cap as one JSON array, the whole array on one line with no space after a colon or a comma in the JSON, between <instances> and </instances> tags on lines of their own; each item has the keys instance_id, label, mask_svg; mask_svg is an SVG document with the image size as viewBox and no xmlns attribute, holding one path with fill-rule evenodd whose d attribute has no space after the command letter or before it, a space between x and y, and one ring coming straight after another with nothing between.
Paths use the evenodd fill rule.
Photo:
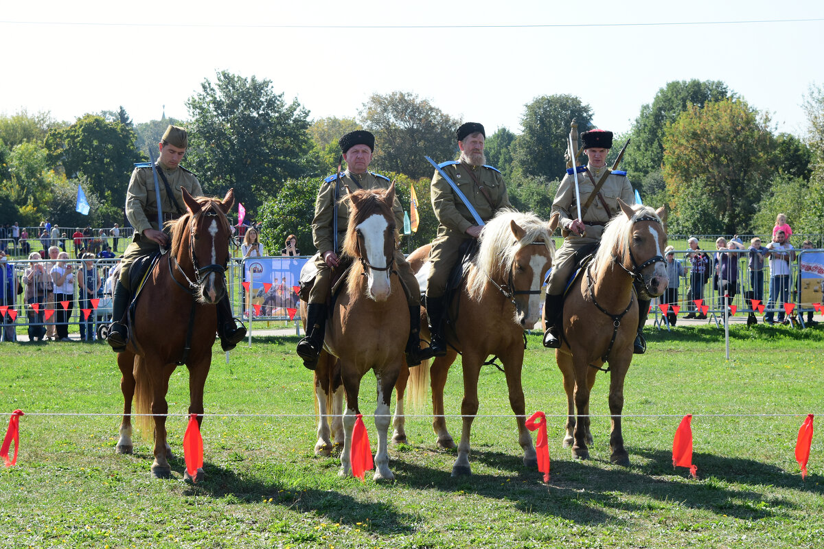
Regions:
<instances>
[{"instance_id":1,"label":"khaki jacket of the leftmost rider wearing a side cap","mask_svg":"<svg viewBox=\"0 0 824 549\"><path fill-rule=\"evenodd\" d=\"M175 170L167 170L158 161L157 170L163 171L166 175L166 180L169 182L169 188L172 193L175 193L177 203L183 212L186 211L186 205L183 202L183 191L185 188L193 197L203 196L203 189L200 188L200 182L195 175L183 167L178 166ZM175 203L166 196L166 185L157 174L157 184L160 187L160 199L162 202L162 212L178 215ZM135 235L142 235L144 230L159 229L157 226L157 195L154 188L154 177L152 175L152 166L141 164L134 168L132 172L132 179L129 180L129 189L126 191L126 218L134 227Z\"/></svg>"}]
</instances>

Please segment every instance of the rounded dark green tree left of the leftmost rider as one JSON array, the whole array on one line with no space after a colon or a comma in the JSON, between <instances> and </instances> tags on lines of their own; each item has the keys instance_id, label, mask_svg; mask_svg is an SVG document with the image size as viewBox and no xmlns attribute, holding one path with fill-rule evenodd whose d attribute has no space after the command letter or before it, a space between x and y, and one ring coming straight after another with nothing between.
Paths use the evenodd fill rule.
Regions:
<instances>
[{"instance_id":1,"label":"rounded dark green tree left of the leftmost rider","mask_svg":"<svg viewBox=\"0 0 824 549\"><path fill-rule=\"evenodd\" d=\"M89 186L104 202L124 204L129 174L143 161L134 148L134 132L102 116L86 114L68 128L46 135L49 165L63 165L69 179L86 175Z\"/></svg>"}]
</instances>

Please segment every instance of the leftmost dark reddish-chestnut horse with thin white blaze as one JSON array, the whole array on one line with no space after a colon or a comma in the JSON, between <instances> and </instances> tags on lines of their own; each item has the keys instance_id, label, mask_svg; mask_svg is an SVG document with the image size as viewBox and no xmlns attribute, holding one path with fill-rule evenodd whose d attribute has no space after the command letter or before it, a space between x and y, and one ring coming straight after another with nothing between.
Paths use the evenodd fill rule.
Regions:
<instances>
[{"instance_id":1,"label":"leftmost dark reddish-chestnut horse with thin white blaze","mask_svg":"<svg viewBox=\"0 0 824 549\"><path fill-rule=\"evenodd\" d=\"M231 230L226 214L235 201L232 189L220 200L192 198L185 188L183 200L187 212L171 222L171 250L148 273L129 327L132 337L117 356L124 411L116 451L132 453L134 399L138 414L155 414L138 416L138 422L147 430L154 420L152 476L158 478L171 476L166 392L177 365L189 368L189 412L203 421L204 384L218 326L215 305L227 291ZM196 480L203 474L199 468Z\"/></svg>"}]
</instances>

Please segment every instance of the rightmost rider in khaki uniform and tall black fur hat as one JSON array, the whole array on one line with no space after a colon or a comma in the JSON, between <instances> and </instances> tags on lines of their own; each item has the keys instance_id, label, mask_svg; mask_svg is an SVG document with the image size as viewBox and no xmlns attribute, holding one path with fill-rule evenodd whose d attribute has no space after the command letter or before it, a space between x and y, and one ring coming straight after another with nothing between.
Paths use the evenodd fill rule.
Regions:
<instances>
[{"instance_id":1,"label":"rightmost rider in khaki uniform and tall black fur hat","mask_svg":"<svg viewBox=\"0 0 824 549\"><path fill-rule=\"evenodd\" d=\"M595 190L595 185L601 180L602 175L608 170L606 167L606 156L612 147L612 132L606 130L593 129L581 134L583 142L583 153L587 155L589 161L586 166L578 166L578 190L581 194L581 207L587 203L590 194ZM564 237L564 245L555 252L552 262L552 272L550 273L550 283L546 289L546 301L544 305L544 319L546 323L546 333L544 334L544 346L551 349L560 347L560 340L557 333L558 319L564 304L564 289L567 281L578 263L580 254L590 254L597 249L601 242L601 235L604 232L606 222L617 212L620 212L618 198L627 204L635 203L635 196L630 185L630 179L626 177L624 171L611 171L606 176L596 198L592 200L586 212L583 214L583 222L578 220L578 206L575 202L575 179L573 168L567 170L567 174L561 181L558 192L555 193L555 202L552 202L552 213L558 214L558 224L569 234ZM583 250L583 251L582 251ZM639 329L638 337L635 338L634 352L643 354L646 348L644 337L641 335L641 328L647 320L649 301L640 300L639 305Z\"/></svg>"}]
</instances>

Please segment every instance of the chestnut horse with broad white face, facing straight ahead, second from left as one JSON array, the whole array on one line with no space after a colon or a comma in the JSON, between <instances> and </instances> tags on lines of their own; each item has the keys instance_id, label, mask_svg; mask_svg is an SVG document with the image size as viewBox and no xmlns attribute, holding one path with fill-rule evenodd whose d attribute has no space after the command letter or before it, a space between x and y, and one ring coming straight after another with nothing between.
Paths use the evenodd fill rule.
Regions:
<instances>
[{"instance_id":1,"label":"chestnut horse with broad white face, facing straight ahead, second from left","mask_svg":"<svg viewBox=\"0 0 824 549\"><path fill-rule=\"evenodd\" d=\"M404 349L410 333L409 308L393 263L397 228L392 213L395 184L386 191L361 189L349 193L349 226L344 240L344 255L353 258L344 290L335 300L326 328L325 351L315 370L317 403L320 407L317 454L329 455L332 449L327 423L330 403L333 412L341 406L339 386L346 394L343 422L333 418L332 430L339 441L344 430L344 449L340 474L352 474L352 430L360 413L358 391L363 375L373 370L377 378L377 453L375 480L392 479L386 439L391 422L392 388L404 362ZM306 304L301 303L301 310ZM339 361L335 358L339 359ZM333 396L337 398L333 398Z\"/></svg>"}]
</instances>

